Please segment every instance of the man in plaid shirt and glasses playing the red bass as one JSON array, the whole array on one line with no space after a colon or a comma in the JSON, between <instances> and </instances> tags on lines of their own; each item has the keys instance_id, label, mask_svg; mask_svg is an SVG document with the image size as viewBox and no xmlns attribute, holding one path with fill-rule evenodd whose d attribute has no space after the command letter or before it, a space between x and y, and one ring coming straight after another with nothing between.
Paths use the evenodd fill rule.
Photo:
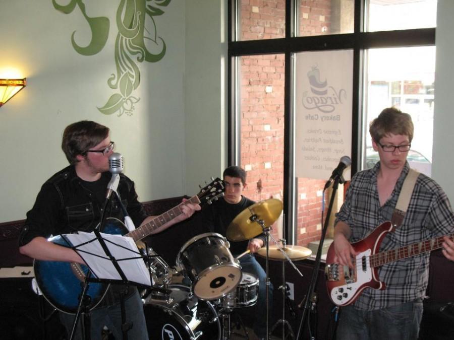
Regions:
<instances>
[{"instance_id":1,"label":"man in plaid shirt and glasses playing the red bass","mask_svg":"<svg viewBox=\"0 0 454 340\"><path fill-rule=\"evenodd\" d=\"M409 114L386 108L371 122L369 132L380 161L353 176L334 228L334 262L351 268L357 252L349 242L364 239L381 223L391 220L410 169L407 155L413 122ZM453 232L454 214L446 194L433 179L419 174L403 222L384 237L380 251ZM454 242L447 237L443 254L454 260ZM352 305L341 309L337 339L417 339L429 256L426 252L379 267L378 279L386 288L366 288Z\"/></svg>"}]
</instances>

